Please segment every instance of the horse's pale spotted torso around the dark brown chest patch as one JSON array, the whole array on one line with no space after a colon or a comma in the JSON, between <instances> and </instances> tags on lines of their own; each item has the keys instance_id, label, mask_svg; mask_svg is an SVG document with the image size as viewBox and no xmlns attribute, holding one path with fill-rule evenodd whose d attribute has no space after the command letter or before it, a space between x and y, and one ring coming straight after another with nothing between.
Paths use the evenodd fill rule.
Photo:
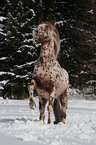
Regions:
<instances>
[{"instance_id":1,"label":"horse's pale spotted torso around the dark brown chest patch","mask_svg":"<svg viewBox=\"0 0 96 145\"><path fill-rule=\"evenodd\" d=\"M68 74L62 69L57 61L35 66L34 76L40 76L42 80L52 80L55 84L55 96L59 96L68 86ZM39 96L49 97L49 93L42 89L37 89Z\"/></svg>"}]
</instances>

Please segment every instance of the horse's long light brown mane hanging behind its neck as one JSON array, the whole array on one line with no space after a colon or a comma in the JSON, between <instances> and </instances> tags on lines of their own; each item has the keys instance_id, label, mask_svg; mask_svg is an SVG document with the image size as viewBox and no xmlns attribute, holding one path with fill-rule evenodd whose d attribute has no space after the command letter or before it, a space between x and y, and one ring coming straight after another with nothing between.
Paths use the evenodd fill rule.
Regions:
<instances>
[{"instance_id":1,"label":"horse's long light brown mane hanging behind its neck","mask_svg":"<svg viewBox=\"0 0 96 145\"><path fill-rule=\"evenodd\" d=\"M60 50L59 32L54 24L52 24L50 22L46 22L46 24L50 26L51 30L53 30L54 51L55 51L55 57L57 58L57 55L58 55L59 50Z\"/></svg>"}]
</instances>

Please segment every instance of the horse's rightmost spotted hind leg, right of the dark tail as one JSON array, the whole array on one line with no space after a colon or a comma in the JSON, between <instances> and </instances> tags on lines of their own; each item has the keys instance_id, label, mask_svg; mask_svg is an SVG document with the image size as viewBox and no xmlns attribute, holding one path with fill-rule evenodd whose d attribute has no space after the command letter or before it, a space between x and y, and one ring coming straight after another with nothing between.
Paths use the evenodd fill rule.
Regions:
<instances>
[{"instance_id":1,"label":"horse's rightmost spotted hind leg, right of the dark tail","mask_svg":"<svg viewBox=\"0 0 96 145\"><path fill-rule=\"evenodd\" d=\"M65 124L66 122L66 109L68 105L68 89L64 91L62 95L59 96L61 107L62 107L62 122Z\"/></svg>"}]
</instances>

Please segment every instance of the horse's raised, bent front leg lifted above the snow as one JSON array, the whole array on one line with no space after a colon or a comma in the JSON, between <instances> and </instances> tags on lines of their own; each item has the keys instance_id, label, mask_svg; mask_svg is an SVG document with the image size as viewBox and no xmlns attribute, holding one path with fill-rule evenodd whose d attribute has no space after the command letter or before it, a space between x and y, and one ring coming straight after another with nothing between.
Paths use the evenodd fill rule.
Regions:
<instances>
[{"instance_id":1,"label":"horse's raised, bent front leg lifted above the snow","mask_svg":"<svg viewBox=\"0 0 96 145\"><path fill-rule=\"evenodd\" d=\"M35 80L32 80L30 85L28 86L28 90L29 90L29 106L31 109L34 109L36 107L35 105L35 101L33 99L33 91L36 88L36 82Z\"/></svg>"}]
</instances>

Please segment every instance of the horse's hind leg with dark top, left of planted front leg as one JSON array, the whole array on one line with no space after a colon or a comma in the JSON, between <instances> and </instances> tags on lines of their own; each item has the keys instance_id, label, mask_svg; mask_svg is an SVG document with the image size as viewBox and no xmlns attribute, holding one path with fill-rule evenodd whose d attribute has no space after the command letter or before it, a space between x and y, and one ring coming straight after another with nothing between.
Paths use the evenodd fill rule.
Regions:
<instances>
[{"instance_id":1,"label":"horse's hind leg with dark top, left of planted front leg","mask_svg":"<svg viewBox=\"0 0 96 145\"><path fill-rule=\"evenodd\" d=\"M47 100L45 98L39 98L39 111L40 111L40 120L45 120L45 106Z\"/></svg>"}]
</instances>

